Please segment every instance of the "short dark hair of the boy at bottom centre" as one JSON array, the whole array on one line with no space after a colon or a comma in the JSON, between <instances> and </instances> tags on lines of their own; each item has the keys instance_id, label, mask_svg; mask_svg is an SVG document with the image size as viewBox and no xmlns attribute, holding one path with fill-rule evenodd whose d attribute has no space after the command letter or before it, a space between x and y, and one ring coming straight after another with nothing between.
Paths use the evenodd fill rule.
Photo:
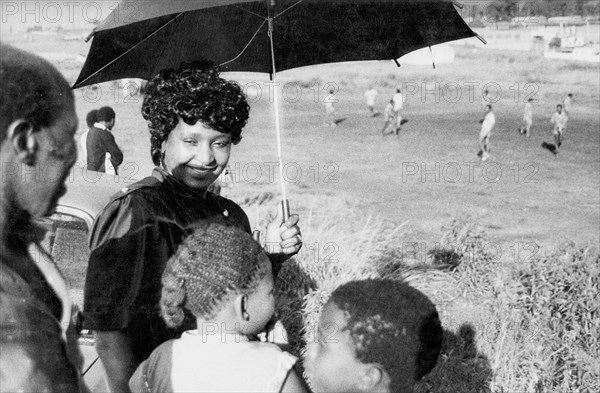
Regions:
<instances>
[{"instance_id":1,"label":"short dark hair of the boy at bottom centre","mask_svg":"<svg viewBox=\"0 0 600 393\"><path fill-rule=\"evenodd\" d=\"M419 290L394 280L352 281L331 295L347 315L356 357L382 365L391 391L412 391L435 366L443 329L433 303Z\"/></svg>"}]
</instances>

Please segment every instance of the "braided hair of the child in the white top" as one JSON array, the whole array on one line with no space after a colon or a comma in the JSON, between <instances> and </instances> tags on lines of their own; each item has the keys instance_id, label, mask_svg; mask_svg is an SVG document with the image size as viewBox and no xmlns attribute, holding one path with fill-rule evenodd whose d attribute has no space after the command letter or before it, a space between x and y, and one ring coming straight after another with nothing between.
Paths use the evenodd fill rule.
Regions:
<instances>
[{"instance_id":1,"label":"braided hair of the child in the white top","mask_svg":"<svg viewBox=\"0 0 600 393\"><path fill-rule=\"evenodd\" d=\"M231 296L252 293L270 267L259 258L260 245L240 228L200 222L188 231L162 276L160 308L170 327L181 326L184 307L210 318Z\"/></svg>"}]
</instances>

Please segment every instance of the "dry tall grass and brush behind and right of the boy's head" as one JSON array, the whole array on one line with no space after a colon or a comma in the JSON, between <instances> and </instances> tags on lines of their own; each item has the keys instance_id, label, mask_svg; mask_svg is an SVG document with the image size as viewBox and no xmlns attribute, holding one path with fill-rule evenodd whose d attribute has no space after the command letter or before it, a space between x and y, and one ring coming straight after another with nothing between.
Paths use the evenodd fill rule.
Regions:
<instances>
[{"instance_id":1,"label":"dry tall grass and brush behind and right of the boy's head","mask_svg":"<svg viewBox=\"0 0 600 393\"><path fill-rule=\"evenodd\" d=\"M305 210L311 197L299 198L305 206L297 210L312 217L302 225L304 250L286 262L277 285L279 317L297 354L313 339L319 312L338 285L387 277L430 296L444 325L438 365L417 392L600 391L597 250L570 244L525 263L498 261L476 220L458 217L423 265L402 254L402 225L363 217L333 197L319 198L330 214L315 218ZM270 199L242 205L265 223Z\"/></svg>"}]
</instances>

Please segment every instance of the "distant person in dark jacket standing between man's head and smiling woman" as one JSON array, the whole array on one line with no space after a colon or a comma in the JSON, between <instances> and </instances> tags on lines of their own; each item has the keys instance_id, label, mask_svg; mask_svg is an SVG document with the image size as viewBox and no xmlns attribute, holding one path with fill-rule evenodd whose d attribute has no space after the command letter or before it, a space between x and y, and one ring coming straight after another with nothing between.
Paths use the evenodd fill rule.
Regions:
<instances>
[{"instance_id":1,"label":"distant person in dark jacket standing between man's head and smiling woman","mask_svg":"<svg viewBox=\"0 0 600 393\"><path fill-rule=\"evenodd\" d=\"M96 123L90 129L87 140L87 169L90 171L107 172L105 160L106 153L110 154L110 162L113 165L115 174L118 174L118 167L123 162L123 153L111 130L115 125L115 111L108 106L98 110Z\"/></svg>"}]
</instances>

